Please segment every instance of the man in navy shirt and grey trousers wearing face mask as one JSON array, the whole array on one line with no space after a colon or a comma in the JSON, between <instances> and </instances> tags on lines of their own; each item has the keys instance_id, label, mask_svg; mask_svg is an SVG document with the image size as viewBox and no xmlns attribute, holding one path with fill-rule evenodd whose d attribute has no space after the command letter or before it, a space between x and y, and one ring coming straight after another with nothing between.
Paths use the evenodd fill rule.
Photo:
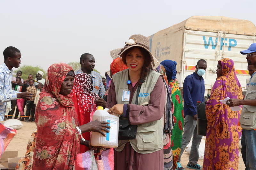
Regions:
<instances>
[{"instance_id":1,"label":"man in navy shirt and grey trousers wearing face mask","mask_svg":"<svg viewBox=\"0 0 256 170\"><path fill-rule=\"evenodd\" d=\"M204 102L204 78L202 77L205 74L205 70L207 68L207 63L205 60L198 60L196 64L196 70L193 74L187 76L184 80L183 87L183 97L184 97L184 133L182 135L181 142L181 151L180 157L177 163L178 170L183 170L184 168L180 165L180 158L186 146L192 140L191 151L189 155L189 162L187 168L190 169L200 169L200 165L197 164L199 158L198 147L201 142L202 136L197 135L196 129L196 118L197 118L197 109L196 104L197 101Z\"/></svg>"}]
</instances>

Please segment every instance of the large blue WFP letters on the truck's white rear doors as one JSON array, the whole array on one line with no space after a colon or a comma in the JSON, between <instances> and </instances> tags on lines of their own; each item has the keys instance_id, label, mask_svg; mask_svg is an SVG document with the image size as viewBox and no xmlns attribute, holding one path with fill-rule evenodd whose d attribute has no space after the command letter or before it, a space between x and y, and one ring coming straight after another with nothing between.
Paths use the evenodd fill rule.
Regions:
<instances>
[{"instance_id":1,"label":"large blue WFP letters on the truck's white rear doors","mask_svg":"<svg viewBox=\"0 0 256 170\"><path fill-rule=\"evenodd\" d=\"M217 46L217 43L218 43L218 37L215 38L215 41L213 41L212 37L209 37L208 39L208 42L206 41L206 37L203 36L203 40L204 40L204 48L205 49L208 49L209 45L211 44L212 45L212 49L215 49L216 46ZM235 39L227 39L225 38L225 42L228 42L228 43L225 43L224 44L224 38L221 38L220 39L220 50L222 50L222 47L225 45L227 46L228 45L228 51L231 51L231 47L235 47L237 45L237 42Z\"/></svg>"}]
</instances>

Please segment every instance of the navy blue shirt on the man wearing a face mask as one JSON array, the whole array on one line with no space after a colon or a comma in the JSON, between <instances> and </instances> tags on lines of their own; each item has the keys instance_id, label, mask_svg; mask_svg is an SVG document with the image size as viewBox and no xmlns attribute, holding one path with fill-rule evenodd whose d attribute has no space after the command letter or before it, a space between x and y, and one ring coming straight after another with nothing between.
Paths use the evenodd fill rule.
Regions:
<instances>
[{"instance_id":1,"label":"navy blue shirt on the man wearing a face mask","mask_svg":"<svg viewBox=\"0 0 256 170\"><path fill-rule=\"evenodd\" d=\"M194 72L185 78L183 86L184 116L194 116L197 101L204 102L204 78Z\"/></svg>"}]
</instances>

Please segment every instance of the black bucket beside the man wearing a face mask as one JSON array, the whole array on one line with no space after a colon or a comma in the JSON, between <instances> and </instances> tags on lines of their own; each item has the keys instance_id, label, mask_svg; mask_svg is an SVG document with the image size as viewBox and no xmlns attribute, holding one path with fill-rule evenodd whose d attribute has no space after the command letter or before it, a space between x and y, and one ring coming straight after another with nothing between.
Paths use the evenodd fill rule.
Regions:
<instances>
[{"instance_id":1,"label":"black bucket beside the man wearing a face mask","mask_svg":"<svg viewBox=\"0 0 256 170\"><path fill-rule=\"evenodd\" d=\"M205 115L206 102L197 105L197 135L206 136L207 119Z\"/></svg>"}]
</instances>

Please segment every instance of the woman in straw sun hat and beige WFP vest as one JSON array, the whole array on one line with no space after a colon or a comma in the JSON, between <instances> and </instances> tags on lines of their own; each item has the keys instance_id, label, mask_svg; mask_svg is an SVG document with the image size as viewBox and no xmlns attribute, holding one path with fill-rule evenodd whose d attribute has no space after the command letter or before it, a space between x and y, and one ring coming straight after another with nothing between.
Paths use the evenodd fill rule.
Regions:
<instances>
[{"instance_id":1,"label":"woman in straw sun hat and beige WFP vest","mask_svg":"<svg viewBox=\"0 0 256 170\"><path fill-rule=\"evenodd\" d=\"M149 52L147 37L132 35L125 44L110 52L112 58L121 56L129 69L113 75L106 108L128 119L137 130L135 139L118 140L115 169L164 169L166 88L162 75L153 71L159 62Z\"/></svg>"}]
</instances>

